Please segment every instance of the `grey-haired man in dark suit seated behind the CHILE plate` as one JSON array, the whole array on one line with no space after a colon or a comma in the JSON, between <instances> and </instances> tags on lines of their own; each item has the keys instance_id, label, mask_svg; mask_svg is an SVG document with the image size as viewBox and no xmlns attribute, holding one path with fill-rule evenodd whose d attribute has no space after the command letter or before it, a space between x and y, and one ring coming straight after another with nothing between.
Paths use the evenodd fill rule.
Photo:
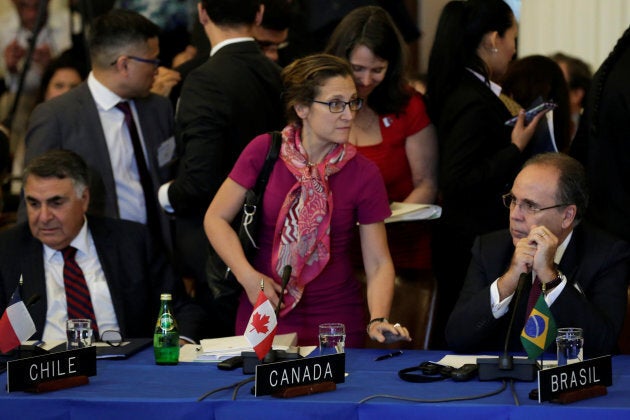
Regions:
<instances>
[{"instance_id":1,"label":"grey-haired man in dark suit seated behind the CHILE plate","mask_svg":"<svg viewBox=\"0 0 630 420\"><path fill-rule=\"evenodd\" d=\"M23 278L25 301L41 297L29 308L37 327L33 338L65 341L76 290L87 286L83 302L90 309L81 317L93 319L99 332L152 337L160 294L172 293L180 334L201 338L205 313L186 300L182 282L146 226L86 216L88 176L81 157L67 150L49 151L26 167L28 223L0 234L0 313ZM72 264L78 267L74 276L66 272ZM82 285L74 283L77 277Z\"/></svg>"}]
</instances>

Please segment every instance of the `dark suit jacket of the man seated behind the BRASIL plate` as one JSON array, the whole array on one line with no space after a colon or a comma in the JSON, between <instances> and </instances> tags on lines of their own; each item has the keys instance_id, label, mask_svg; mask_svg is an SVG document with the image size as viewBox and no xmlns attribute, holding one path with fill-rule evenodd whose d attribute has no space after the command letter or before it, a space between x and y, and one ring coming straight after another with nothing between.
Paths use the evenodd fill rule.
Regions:
<instances>
[{"instance_id":1,"label":"dark suit jacket of the man seated behind the BRASIL plate","mask_svg":"<svg viewBox=\"0 0 630 420\"><path fill-rule=\"evenodd\" d=\"M490 305L490 285L507 271L513 253L512 238L507 230L475 240L468 275L446 328L446 338L453 350L503 349L515 299L509 311L495 319ZM558 328L584 329L585 357L610 354L616 348L626 314L629 245L599 229L580 224L574 229L558 268L568 281L551 305ZM531 283L527 283L516 308L516 322L509 341L511 351L523 351L519 336L525 323L530 290Z\"/></svg>"}]
</instances>

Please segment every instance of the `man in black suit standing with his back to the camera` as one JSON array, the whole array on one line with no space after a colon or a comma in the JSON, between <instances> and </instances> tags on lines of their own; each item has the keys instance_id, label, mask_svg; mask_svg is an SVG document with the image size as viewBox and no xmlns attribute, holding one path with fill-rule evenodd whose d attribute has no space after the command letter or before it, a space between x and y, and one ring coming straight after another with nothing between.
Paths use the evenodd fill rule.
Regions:
<instances>
[{"instance_id":1,"label":"man in black suit standing with his back to the camera","mask_svg":"<svg viewBox=\"0 0 630 420\"><path fill-rule=\"evenodd\" d=\"M244 147L282 128L283 106L280 68L252 35L263 14L260 1L203 0L198 11L212 50L184 81L176 115L179 172L160 188L159 199L175 214L176 258L204 300L209 244L203 216ZM232 335L233 325L216 333Z\"/></svg>"}]
</instances>

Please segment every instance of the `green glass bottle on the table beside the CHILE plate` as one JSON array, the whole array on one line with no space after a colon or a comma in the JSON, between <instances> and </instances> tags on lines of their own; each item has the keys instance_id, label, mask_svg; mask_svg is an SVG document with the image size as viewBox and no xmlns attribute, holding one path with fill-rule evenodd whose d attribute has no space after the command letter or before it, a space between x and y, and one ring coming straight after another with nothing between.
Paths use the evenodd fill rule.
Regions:
<instances>
[{"instance_id":1,"label":"green glass bottle on the table beside the CHILE plate","mask_svg":"<svg viewBox=\"0 0 630 420\"><path fill-rule=\"evenodd\" d=\"M153 334L153 351L158 365L176 365L179 361L179 330L171 300L170 293L160 295L160 315Z\"/></svg>"}]
</instances>

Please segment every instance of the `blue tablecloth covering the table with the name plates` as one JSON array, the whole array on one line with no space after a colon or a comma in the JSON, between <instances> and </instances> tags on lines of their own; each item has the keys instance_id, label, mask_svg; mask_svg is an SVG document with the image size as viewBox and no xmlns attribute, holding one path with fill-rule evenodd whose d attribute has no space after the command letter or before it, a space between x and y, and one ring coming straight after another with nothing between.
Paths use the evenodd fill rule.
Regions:
<instances>
[{"instance_id":1,"label":"blue tablecloth covering the table with the name plates","mask_svg":"<svg viewBox=\"0 0 630 420\"><path fill-rule=\"evenodd\" d=\"M251 384L241 388L235 401L232 390L213 394L201 402L204 393L246 378L241 370L221 371L214 364L180 363L157 366L152 349L127 360L99 360L97 375L85 386L45 394L25 392L0 394L1 419L193 419L236 418L462 418L473 419L593 419L630 418L630 356L613 358L613 386L608 395L570 405L538 404L528 399L535 382L516 383L520 406L509 388L502 393L477 400L449 403L414 403L377 398L360 400L374 394L438 399L491 392L500 382L409 383L398 378L400 369L425 360L439 360L444 353L405 351L402 356L376 362L382 350L347 349L346 382L337 390L309 396L280 399L254 397ZM6 373L0 375L6 383Z\"/></svg>"}]
</instances>

